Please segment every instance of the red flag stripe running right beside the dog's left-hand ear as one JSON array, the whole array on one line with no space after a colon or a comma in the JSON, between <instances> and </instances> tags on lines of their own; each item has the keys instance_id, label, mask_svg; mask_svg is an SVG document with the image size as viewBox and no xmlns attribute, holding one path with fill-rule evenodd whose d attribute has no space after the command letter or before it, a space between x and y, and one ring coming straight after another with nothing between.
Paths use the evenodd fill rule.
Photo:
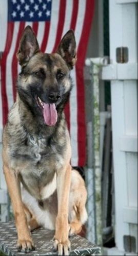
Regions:
<instances>
[{"instance_id":1,"label":"red flag stripe running right beside the dog's left-hand ear","mask_svg":"<svg viewBox=\"0 0 138 256\"><path fill-rule=\"evenodd\" d=\"M18 32L17 32L17 39L16 39L16 44L15 44L15 49L14 49L14 54L13 54L13 59L12 59L12 90L13 90L13 99L15 101L16 99L16 80L17 80L17 57L16 53L19 47L19 41L21 40L21 36L23 33L23 30L25 28L25 22L20 22Z\"/></svg>"}]
</instances>

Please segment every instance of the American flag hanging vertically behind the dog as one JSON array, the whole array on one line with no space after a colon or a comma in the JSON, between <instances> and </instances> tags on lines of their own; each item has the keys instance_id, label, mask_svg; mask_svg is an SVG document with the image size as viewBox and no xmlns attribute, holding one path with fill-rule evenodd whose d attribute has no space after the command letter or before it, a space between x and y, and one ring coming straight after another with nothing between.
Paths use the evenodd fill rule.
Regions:
<instances>
[{"instance_id":1,"label":"American flag hanging vertically behind the dog","mask_svg":"<svg viewBox=\"0 0 138 256\"><path fill-rule=\"evenodd\" d=\"M8 22L3 28L5 33L7 30L7 39L1 60L3 125L16 98L16 78L20 71L16 52L24 28L27 25L33 28L42 52L47 53L54 52L64 34L69 29L73 29L77 44L77 63L71 72L74 86L65 113L72 145L71 164L84 166L86 164L86 127L83 69L94 0L1 1L5 2L3 6L7 8L8 13Z\"/></svg>"}]
</instances>

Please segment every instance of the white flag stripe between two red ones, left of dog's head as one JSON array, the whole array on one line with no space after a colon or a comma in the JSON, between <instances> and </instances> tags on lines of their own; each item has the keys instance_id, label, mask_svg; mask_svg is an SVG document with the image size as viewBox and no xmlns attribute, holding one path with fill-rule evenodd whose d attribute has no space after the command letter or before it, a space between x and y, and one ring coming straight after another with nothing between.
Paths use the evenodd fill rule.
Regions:
<instances>
[{"instance_id":1,"label":"white flag stripe between two red ones, left of dog's head","mask_svg":"<svg viewBox=\"0 0 138 256\"><path fill-rule=\"evenodd\" d=\"M11 106L13 105L13 91L12 91L12 59L13 59L13 53L16 47L16 40L17 40L17 34L19 29L20 22L14 23L14 31L13 31L13 38L12 38L12 44L10 48L10 52L7 57L7 63L6 63L6 93L8 98L8 108L10 110Z\"/></svg>"}]
</instances>

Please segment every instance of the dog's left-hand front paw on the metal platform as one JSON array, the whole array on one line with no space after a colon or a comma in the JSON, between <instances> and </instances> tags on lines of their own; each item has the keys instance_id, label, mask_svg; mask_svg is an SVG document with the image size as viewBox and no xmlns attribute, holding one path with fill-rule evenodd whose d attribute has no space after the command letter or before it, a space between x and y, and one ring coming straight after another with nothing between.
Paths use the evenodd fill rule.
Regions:
<instances>
[{"instance_id":1,"label":"dog's left-hand front paw on the metal platform","mask_svg":"<svg viewBox=\"0 0 138 256\"><path fill-rule=\"evenodd\" d=\"M17 250L21 252L29 252L35 250L32 240L18 240Z\"/></svg>"}]
</instances>

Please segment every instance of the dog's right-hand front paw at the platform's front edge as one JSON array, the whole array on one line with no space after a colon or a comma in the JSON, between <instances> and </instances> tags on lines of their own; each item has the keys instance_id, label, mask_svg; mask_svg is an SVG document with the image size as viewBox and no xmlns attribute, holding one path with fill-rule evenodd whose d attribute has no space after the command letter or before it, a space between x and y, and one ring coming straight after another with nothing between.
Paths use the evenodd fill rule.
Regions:
<instances>
[{"instance_id":1,"label":"dog's right-hand front paw at the platform's front edge","mask_svg":"<svg viewBox=\"0 0 138 256\"><path fill-rule=\"evenodd\" d=\"M64 243L59 242L56 238L54 238L53 244L54 251L58 251L58 255L69 255L70 253L70 241L66 241Z\"/></svg>"}]
</instances>

